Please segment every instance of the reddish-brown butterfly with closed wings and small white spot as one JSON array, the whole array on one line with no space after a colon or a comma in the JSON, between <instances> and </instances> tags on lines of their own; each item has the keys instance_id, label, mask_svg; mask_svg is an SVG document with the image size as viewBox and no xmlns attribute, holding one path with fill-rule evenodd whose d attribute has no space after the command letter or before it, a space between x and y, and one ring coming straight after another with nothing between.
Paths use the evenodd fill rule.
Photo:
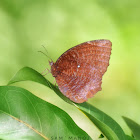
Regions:
<instances>
[{"instance_id":1,"label":"reddish-brown butterfly with closed wings and small white spot","mask_svg":"<svg viewBox=\"0 0 140 140\"><path fill-rule=\"evenodd\" d=\"M60 91L76 103L85 102L100 91L111 46L109 40L84 42L64 52L55 63L50 62Z\"/></svg>"}]
</instances>

